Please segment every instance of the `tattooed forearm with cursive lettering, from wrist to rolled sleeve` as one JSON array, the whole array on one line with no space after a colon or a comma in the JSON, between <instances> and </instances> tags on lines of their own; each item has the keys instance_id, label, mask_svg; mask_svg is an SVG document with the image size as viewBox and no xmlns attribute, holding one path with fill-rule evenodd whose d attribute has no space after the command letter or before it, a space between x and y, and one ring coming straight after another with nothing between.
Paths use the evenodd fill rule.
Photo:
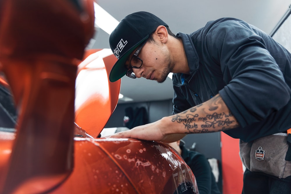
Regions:
<instances>
[{"instance_id":1,"label":"tattooed forearm with cursive lettering, from wrist to rolled sleeve","mask_svg":"<svg viewBox=\"0 0 291 194\"><path fill-rule=\"evenodd\" d=\"M166 119L167 124L171 124L168 132L180 134L210 133L239 126L219 94L207 102Z\"/></svg>"}]
</instances>

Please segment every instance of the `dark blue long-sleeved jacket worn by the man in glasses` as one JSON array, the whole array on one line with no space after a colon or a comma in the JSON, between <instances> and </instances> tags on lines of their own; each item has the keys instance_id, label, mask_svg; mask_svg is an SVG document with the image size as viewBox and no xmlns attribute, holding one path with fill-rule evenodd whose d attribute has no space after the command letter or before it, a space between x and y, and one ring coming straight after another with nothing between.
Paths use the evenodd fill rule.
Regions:
<instances>
[{"instance_id":1,"label":"dark blue long-sleeved jacket worn by the man in glasses","mask_svg":"<svg viewBox=\"0 0 291 194\"><path fill-rule=\"evenodd\" d=\"M190 75L173 74L173 114L220 94L240 124L224 131L251 141L291 128L291 54L260 29L235 18L178 33Z\"/></svg>"}]
</instances>

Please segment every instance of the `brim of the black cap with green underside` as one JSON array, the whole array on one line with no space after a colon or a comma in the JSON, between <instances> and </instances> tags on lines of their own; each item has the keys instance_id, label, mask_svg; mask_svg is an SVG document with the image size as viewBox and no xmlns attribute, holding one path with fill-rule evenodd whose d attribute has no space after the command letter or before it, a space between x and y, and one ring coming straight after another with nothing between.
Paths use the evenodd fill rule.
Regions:
<instances>
[{"instance_id":1,"label":"brim of the black cap with green underside","mask_svg":"<svg viewBox=\"0 0 291 194\"><path fill-rule=\"evenodd\" d=\"M127 72L127 68L125 67L125 62L129 55L136 49L147 37L143 38L141 41L139 41L136 45L131 47L123 56L121 56L116 63L113 65L110 74L109 74L109 81L115 82L118 79L122 78L125 76Z\"/></svg>"}]
</instances>

